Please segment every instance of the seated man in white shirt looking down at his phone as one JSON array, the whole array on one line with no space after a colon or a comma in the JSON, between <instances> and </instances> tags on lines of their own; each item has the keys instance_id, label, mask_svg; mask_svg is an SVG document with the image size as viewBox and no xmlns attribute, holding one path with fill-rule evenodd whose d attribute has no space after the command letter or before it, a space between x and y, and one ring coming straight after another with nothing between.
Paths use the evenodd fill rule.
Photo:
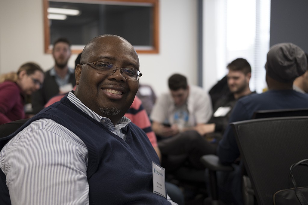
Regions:
<instances>
[{"instance_id":1,"label":"seated man in white shirt looking down at his phone","mask_svg":"<svg viewBox=\"0 0 308 205\"><path fill-rule=\"evenodd\" d=\"M150 115L152 129L158 137L158 147L163 156L162 164L168 166L168 172L177 170L186 161L194 168L204 169L200 156L214 154L216 150L198 132L212 116L211 98L201 87L188 85L186 77L181 74L169 77L168 86L170 92L157 99ZM183 148L177 146L181 140L176 138L189 141ZM179 152L184 154L174 157L180 155Z\"/></svg>"}]
</instances>

